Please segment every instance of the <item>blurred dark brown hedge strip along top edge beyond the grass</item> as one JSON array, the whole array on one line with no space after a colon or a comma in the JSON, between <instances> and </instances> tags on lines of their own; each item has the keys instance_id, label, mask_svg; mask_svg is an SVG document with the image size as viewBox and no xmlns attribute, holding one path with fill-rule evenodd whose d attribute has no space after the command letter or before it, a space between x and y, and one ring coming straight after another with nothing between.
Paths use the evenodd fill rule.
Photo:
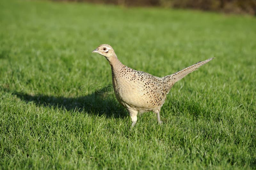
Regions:
<instances>
[{"instance_id":1,"label":"blurred dark brown hedge strip along top edge beyond the grass","mask_svg":"<svg viewBox=\"0 0 256 170\"><path fill-rule=\"evenodd\" d=\"M60 0L61 1L61 0ZM65 0L117 4L122 6L162 6L166 8L190 8L221 11L256 16L256 0Z\"/></svg>"}]
</instances>

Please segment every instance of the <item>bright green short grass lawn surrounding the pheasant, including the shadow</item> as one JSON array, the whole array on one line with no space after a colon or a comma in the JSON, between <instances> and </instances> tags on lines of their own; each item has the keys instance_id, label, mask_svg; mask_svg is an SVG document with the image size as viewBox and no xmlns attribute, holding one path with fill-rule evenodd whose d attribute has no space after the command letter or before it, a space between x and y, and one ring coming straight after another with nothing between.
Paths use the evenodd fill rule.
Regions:
<instances>
[{"instance_id":1,"label":"bright green short grass lawn surrounding the pheasant, including the shadow","mask_svg":"<svg viewBox=\"0 0 256 170\"><path fill-rule=\"evenodd\" d=\"M255 169L256 18L159 8L0 1L1 169ZM113 93L123 64L177 82L135 128Z\"/></svg>"}]
</instances>

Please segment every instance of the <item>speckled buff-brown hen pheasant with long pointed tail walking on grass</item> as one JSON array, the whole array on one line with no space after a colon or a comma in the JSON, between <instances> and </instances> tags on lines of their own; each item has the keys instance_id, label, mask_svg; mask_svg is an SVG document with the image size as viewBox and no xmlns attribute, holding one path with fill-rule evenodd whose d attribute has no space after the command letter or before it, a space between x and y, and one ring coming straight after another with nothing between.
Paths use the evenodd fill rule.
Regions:
<instances>
[{"instance_id":1,"label":"speckled buff-brown hen pheasant with long pointed tail walking on grass","mask_svg":"<svg viewBox=\"0 0 256 170\"><path fill-rule=\"evenodd\" d=\"M161 124L160 110L174 83L213 59L200 61L171 75L156 77L123 65L113 48L107 44L98 46L92 53L99 53L108 60L116 98L128 110L132 127L137 122L137 114L147 111L156 113L158 123Z\"/></svg>"}]
</instances>

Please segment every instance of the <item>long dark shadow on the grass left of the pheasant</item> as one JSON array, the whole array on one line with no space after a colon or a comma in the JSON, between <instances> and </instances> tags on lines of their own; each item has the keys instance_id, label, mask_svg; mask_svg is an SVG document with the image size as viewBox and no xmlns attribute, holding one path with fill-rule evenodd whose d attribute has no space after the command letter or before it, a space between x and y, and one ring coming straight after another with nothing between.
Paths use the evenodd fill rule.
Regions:
<instances>
[{"instance_id":1,"label":"long dark shadow on the grass left of the pheasant","mask_svg":"<svg viewBox=\"0 0 256 170\"><path fill-rule=\"evenodd\" d=\"M89 115L106 115L107 118L124 118L127 116L126 110L114 99L113 94L106 93L104 90L80 97L30 95L16 91L12 94L27 103L33 102L37 106L53 107L54 109L77 111L79 113L85 112Z\"/></svg>"}]
</instances>

